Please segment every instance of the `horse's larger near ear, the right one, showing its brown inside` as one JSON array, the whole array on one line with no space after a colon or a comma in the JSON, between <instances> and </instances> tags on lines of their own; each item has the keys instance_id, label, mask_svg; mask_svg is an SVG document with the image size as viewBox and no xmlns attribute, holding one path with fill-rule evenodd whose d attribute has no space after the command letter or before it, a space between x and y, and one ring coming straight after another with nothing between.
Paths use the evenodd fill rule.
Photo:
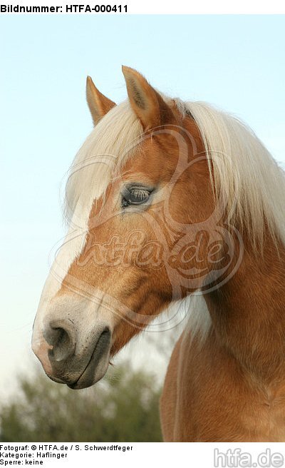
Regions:
<instances>
[{"instance_id":1,"label":"horse's larger near ear, the right one, showing its brown inside","mask_svg":"<svg viewBox=\"0 0 285 468\"><path fill-rule=\"evenodd\" d=\"M170 106L138 71L122 66L130 104L144 130L170 123L174 116Z\"/></svg>"}]
</instances>

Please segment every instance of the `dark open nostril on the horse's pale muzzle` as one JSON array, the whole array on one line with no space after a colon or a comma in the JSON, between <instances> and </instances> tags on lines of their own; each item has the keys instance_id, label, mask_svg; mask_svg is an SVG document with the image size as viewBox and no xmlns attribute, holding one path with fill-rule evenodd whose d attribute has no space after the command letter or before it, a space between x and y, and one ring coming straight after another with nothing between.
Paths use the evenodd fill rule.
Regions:
<instances>
[{"instance_id":1,"label":"dark open nostril on the horse's pale muzzle","mask_svg":"<svg viewBox=\"0 0 285 468\"><path fill-rule=\"evenodd\" d=\"M44 337L51 345L48 352L49 359L61 362L74 354L76 347L76 334L73 325L66 320L51 322L44 332Z\"/></svg>"}]
</instances>

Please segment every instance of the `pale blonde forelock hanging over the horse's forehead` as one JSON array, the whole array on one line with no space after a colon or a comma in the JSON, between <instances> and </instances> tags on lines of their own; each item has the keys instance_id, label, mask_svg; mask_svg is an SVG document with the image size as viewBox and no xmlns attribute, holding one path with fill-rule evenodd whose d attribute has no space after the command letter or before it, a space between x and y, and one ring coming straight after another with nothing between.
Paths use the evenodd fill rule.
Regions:
<instances>
[{"instance_id":1,"label":"pale blonde forelock hanging over the horse's forehead","mask_svg":"<svg viewBox=\"0 0 285 468\"><path fill-rule=\"evenodd\" d=\"M141 135L142 125L128 100L113 107L93 128L68 171L64 200L68 223L84 223L93 201L104 193L115 168L130 158Z\"/></svg>"}]
</instances>

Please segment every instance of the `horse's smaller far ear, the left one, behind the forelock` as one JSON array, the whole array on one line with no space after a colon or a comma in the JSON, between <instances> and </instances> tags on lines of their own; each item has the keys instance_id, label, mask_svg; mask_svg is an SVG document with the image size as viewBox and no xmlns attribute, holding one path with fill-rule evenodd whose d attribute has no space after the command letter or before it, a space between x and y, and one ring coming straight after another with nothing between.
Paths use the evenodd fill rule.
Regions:
<instances>
[{"instance_id":1,"label":"horse's smaller far ear, the left one, behind the forelock","mask_svg":"<svg viewBox=\"0 0 285 468\"><path fill-rule=\"evenodd\" d=\"M90 76L86 80L86 99L94 126L100 121L100 118L105 116L115 106L113 101L98 91Z\"/></svg>"}]
</instances>

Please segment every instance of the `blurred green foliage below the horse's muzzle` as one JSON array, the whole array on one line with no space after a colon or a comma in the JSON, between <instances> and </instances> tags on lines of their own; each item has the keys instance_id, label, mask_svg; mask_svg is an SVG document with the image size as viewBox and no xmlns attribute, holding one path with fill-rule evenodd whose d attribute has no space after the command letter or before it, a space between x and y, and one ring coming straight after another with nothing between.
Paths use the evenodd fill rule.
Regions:
<instances>
[{"instance_id":1,"label":"blurred green foliage below the horse's muzzle","mask_svg":"<svg viewBox=\"0 0 285 468\"><path fill-rule=\"evenodd\" d=\"M16 399L0 409L1 442L160 442L152 375L125 364L86 390L44 375L21 377Z\"/></svg>"}]
</instances>

